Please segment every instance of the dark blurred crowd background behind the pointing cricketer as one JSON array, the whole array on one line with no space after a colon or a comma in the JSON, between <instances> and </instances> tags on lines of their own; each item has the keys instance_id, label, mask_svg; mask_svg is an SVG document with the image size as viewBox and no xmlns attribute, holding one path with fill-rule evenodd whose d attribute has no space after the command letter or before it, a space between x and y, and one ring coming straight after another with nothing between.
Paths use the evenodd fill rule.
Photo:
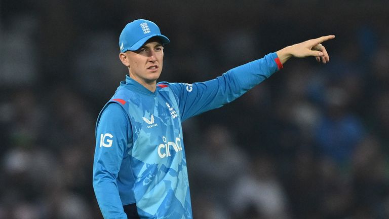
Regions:
<instances>
[{"instance_id":1,"label":"dark blurred crowd background behind the pointing cricketer","mask_svg":"<svg viewBox=\"0 0 389 219\"><path fill-rule=\"evenodd\" d=\"M335 34L183 123L195 218L389 218L387 1L0 1L0 218L102 218L95 121L128 73L119 34L156 22L160 81L193 83Z\"/></svg>"}]
</instances>

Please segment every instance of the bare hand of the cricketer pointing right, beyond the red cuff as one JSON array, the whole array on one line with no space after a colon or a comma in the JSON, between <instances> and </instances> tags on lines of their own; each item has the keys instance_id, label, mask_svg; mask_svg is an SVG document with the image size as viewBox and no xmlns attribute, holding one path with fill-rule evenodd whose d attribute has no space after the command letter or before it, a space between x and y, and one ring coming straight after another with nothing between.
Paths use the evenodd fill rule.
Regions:
<instances>
[{"instance_id":1,"label":"bare hand of the cricketer pointing right, beyond the red cuff","mask_svg":"<svg viewBox=\"0 0 389 219\"><path fill-rule=\"evenodd\" d=\"M326 48L321 44L325 41L334 39L335 35L322 36L317 39L307 40L302 43L294 44L277 51L282 64L292 57L304 58L308 56L315 56L318 62L327 63L330 57Z\"/></svg>"}]
</instances>

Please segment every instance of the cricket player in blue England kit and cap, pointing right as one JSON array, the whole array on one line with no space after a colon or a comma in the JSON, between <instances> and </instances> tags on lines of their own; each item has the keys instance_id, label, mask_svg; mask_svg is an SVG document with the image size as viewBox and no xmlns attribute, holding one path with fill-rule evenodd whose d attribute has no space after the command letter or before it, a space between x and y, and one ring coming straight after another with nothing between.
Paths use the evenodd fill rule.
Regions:
<instances>
[{"instance_id":1,"label":"cricket player in blue England kit and cap, pointing right","mask_svg":"<svg viewBox=\"0 0 389 219\"><path fill-rule=\"evenodd\" d=\"M96 125L93 187L104 218L192 218L181 122L235 100L291 57L328 62L321 43L334 37L269 53L211 81L157 83L169 39L151 21L128 23L119 57L129 75Z\"/></svg>"}]
</instances>

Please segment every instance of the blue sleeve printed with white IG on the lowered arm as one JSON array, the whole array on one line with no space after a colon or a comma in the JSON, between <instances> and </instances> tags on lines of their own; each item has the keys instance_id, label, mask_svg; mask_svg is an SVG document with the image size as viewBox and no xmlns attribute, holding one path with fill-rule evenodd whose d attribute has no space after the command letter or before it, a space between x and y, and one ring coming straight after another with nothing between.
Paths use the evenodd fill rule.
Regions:
<instances>
[{"instance_id":1,"label":"blue sleeve printed with white IG on the lowered arm","mask_svg":"<svg viewBox=\"0 0 389 219\"><path fill-rule=\"evenodd\" d=\"M108 104L98 120L93 188L104 218L126 218L116 178L131 138L131 125L118 103Z\"/></svg>"}]
</instances>

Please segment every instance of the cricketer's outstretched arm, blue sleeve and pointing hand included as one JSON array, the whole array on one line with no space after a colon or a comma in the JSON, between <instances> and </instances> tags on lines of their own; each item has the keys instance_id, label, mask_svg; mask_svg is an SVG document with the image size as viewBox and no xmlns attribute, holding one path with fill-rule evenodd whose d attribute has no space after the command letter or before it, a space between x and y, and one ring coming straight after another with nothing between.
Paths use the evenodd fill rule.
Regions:
<instances>
[{"instance_id":1,"label":"cricketer's outstretched arm, blue sleeve and pointing hand included","mask_svg":"<svg viewBox=\"0 0 389 219\"><path fill-rule=\"evenodd\" d=\"M210 81L193 84L171 83L171 88L179 100L181 121L237 99L283 68L283 64L292 57L314 56L319 62L328 62L329 55L321 43L333 38L334 35L327 35L285 47L261 59L232 68Z\"/></svg>"}]
</instances>

